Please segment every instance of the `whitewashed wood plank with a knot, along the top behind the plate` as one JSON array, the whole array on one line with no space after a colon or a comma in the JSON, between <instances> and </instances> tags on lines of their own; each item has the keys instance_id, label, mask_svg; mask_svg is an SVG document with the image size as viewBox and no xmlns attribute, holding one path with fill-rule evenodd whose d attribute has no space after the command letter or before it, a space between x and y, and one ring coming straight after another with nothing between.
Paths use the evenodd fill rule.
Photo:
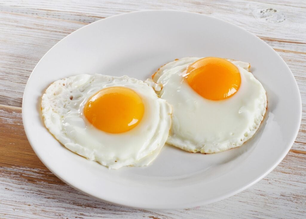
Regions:
<instances>
[{"instance_id":1,"label":"whitewashed wood plank with a knot, along the top behind the plate","mask_svg":"<svg viewBox=\"0 0 306 219\"><path fill-rule=\"evenodd\" d=\"M11 0L2 2L2 11L91 23L124 12L147 9L174 9L199 12L244 27L259 36L305 41L306 2L286 1L99 1L63 3L61 0ZM297 7L297 5L299 5ZM290 31L286 31L290 30Z\"/></svg>"}]
</instances>

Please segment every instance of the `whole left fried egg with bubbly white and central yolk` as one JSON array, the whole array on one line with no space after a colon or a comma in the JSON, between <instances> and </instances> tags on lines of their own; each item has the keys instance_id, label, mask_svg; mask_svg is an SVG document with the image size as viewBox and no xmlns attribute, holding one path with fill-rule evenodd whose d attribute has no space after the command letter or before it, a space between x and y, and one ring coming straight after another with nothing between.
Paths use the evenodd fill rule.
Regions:
<instances>
[{"instance_id":1,"label":"whole left fried egg with bubbly white and central yolk","mask_svg":"<svg viewBox=\"0 0 306 219\"><path fill-rule=\"evenodd\" d=\"M112 169L153 161L172 111L150 83L99 74L55 81L41 109L45 126L66 148Z\"/></svg>"}]
</instances>

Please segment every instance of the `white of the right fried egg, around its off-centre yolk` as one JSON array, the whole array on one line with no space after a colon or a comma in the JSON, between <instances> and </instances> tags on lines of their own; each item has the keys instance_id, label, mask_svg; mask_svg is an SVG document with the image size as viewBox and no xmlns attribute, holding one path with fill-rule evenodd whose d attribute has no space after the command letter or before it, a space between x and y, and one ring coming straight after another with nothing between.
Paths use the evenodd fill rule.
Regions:
<instances>
[{"instance_id":1,"label":"white of the right fried egg, around its off-centre yolk","mask_svg":"<svg viewBox=\"0 0 306 219\"><path fill-rule=\"evenodd\" d=\"M248 72L249 63L229 60L241 75L236 94L220 101L203 98L184 79L187 67L198 59L189 57L170 62L152 76L163 86L159 96L173 107L167 143L201 153L241 146L254 135L263 120L267 108L266 91Z\"/></svg>"}]
</instances>

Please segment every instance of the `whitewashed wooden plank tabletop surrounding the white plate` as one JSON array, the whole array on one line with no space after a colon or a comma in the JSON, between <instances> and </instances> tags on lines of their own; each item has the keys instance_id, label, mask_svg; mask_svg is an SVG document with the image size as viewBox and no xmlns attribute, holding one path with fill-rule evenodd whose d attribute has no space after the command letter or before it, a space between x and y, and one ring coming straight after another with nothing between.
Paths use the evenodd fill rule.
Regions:
<instances>
[{"instance_id":1,"label":"whitewashed wooden plank tabletop surrounding the white plate","mask_svg":"<svg viewBox=\"0 0 306 219\"><path fill-rule=\"evenodd\" d=\"M274 48L292 70L303 102L300 132L278 167L249 189L190 209L130 209L76 191L33 152L21 103L39 59L88 23L144 9L199 12L234 23ZM0 218L306 218L306 1L4 0L0 11Z\"/></svg>"}]
</instances>

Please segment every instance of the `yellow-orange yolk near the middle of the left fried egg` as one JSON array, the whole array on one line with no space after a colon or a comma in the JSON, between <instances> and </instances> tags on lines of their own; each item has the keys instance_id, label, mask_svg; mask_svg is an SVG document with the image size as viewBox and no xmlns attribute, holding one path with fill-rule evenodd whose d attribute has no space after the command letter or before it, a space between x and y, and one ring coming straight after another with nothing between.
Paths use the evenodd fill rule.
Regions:
<instances>
[{"instance_id":1,"label":"yellow-orange yolk near the middle of the left fried egg","mask_svg":"<svg viewBox=\"0 0 306 219\"><path fill-rule=\"evenodd\" d=\"M93 126L104 132L127 132L142 119L144 104L140 96L129 88L108 87L89 98L84 115Z\"/></svg>"}]
</instances>

